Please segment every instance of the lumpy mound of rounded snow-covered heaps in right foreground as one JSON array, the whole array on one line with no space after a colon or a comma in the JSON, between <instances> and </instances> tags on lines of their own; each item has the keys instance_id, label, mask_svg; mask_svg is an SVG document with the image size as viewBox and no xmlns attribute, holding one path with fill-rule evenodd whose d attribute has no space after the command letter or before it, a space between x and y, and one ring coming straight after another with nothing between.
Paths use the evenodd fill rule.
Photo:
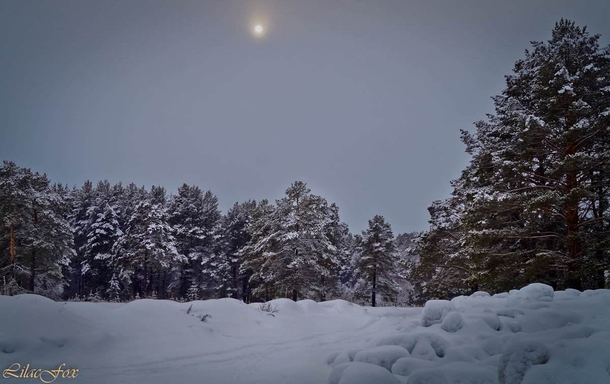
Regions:
<instances>
[{"instance_id":1,"label":"lumpy mound of rounded snow-covered heaps in right foreground","mask_svg":"<svg viewBox=\"0 0 610 384\"><path fill-rule=\"evenodd\" d=\"M329 361L329 384L610 383L610 291L536 283L431 300L414 327Z\"/></svg>"}]
</instances>

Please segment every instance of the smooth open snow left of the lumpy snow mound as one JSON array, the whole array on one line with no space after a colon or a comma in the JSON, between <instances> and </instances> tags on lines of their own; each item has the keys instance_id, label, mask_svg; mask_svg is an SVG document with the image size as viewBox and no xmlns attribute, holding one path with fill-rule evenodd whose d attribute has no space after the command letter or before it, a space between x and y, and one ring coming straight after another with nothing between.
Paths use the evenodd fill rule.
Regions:
<instances>
[{"instance_id":1,"label":"smooth open snow left of the lumpy snow mound","mask_svg":"<svg viewBox=\"0 0 610 384\"><path fill-rule=\"evenodd\" d=\"M71 379L79 383L325 383L332 350L362 349L421 311L385 308L378 316L344 300L268 304L277 311L235 299L62 303L0 295L0 368L65 363L79 369Z\"/></svg>"}]
</instances>

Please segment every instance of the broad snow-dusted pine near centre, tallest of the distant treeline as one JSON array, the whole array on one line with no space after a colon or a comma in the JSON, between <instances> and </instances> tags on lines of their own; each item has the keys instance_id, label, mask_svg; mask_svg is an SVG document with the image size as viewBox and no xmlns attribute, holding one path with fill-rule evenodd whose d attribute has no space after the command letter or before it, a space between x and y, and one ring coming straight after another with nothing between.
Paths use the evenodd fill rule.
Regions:
<instances>
[{"instance_id":1,"label":"broad snow-dusted pine near centre, tallest of the distant treeline","mask_svg":"<svg viewBox=\"0 0 610 384\"><path fill-rule=\"evenodd\" d=\"M243 270L253 270L252 283L259 281L258 294L265 297L292 294L292 299L314 297L325 300L328 287L337 286L337 247L329 238L332 211L326 200L310 193L296 181L276 208L262 201L249 229L252 239L240 251Z\"/></svg>"}]
</instances>

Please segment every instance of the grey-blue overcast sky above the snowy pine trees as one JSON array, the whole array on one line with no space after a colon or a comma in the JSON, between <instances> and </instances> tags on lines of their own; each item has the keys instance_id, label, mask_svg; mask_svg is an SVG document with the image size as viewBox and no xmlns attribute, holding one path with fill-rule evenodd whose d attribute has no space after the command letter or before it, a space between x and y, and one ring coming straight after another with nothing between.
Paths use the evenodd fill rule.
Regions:
<instances>
[{"instance_id":1,"label":"grey-blue overcast sky above the snowy pine trees","mask_svg":"<svg viewBox=\"0 0 610 384\"><path fill-rule=\"evenodd\" d=\"M0 157L87 180L273 201L295 180L354 233L424 230L459 129L531 40L609 1L0 0ZM264 28L253 34L256 24Z\"/></svg>"}]
</instances>

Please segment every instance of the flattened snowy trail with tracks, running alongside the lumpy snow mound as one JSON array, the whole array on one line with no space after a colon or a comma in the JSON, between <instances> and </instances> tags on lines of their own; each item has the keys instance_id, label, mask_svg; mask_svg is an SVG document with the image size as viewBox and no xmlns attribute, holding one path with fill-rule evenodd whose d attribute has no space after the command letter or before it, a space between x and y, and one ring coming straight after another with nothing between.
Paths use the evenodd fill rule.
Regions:
<instances>
[{"instance_id":1,"label":"flattened snowy trail with tracks, running alongside the lumpy snow mound","mask_svg":"<svg viewBox=\"0 0 610 384\"><path fill-rule=\"evenodd\" d=\"M411 309L409 311L409 309L406 309L405 312L415 312L417 317L420 310L413 311ZM400 324L408 316L407 313L392 314L389 316L392 317L390 324L385 324L388 322L387 318L377 316L376 319L371 319L364 326L351 330L316 333L296 339L261 342L232 349L148 361L141 364L89 369L90 373L88 375L91 376L91 379L87 382L108 382L107 380L112 377L112 380L124 383L134 382L135 380L148 383L167 383L171 381L172 376L178 376L182 372L188 371L189 376L199 375L202 379L210 375L213 380L208 379L204 382L219 384L257 383L259 382L257 378L260 379L260 383L273 383L274 380L278 379L280 380L278 383L311 383L312 377L309 375L304 377L303 372L298 372L296 375L285 373L278 377L276 373L277 362L285 360L300 361L303 358L303 350L309 350L318 357L316 360L319 360L314 360L312 363L324 363L328 353L337 349L364 347L368 339L377 335L380 331L386 331ZM226 335L223 336L226 337ZM245 363L245 366L236 371L234 369L236 363ZM219 372L223 372L223 375L218 375ZM319 382L325 383L330 372L330 367L322 369Z\"/></svg>"}]
</instances>

